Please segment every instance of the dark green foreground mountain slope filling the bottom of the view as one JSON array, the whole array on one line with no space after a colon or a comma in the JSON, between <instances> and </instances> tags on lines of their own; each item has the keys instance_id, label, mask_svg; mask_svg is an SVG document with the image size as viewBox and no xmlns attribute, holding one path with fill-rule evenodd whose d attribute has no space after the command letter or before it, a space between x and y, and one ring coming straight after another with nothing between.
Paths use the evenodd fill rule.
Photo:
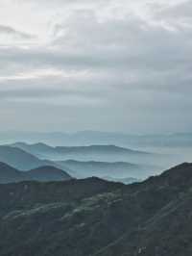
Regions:
<instances>
[{"instance_id":1,"label":"dark green foreground mountain slope filling the bottom of the view","mask_svg":"<svg viewBox=\"0 0 192 256\"><path fill-rule=\"evenodd\" d=\"M98 178L0 186L1 256L192 255L192 165L129 186Z\"/></svg>"}]
</instances>

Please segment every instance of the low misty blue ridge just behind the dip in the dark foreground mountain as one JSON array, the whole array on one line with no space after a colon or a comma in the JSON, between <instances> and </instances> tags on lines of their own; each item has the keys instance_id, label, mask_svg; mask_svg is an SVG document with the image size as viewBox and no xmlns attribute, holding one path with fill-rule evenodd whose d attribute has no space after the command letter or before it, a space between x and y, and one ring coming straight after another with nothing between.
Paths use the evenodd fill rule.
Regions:
<instances>
[{"instance_id":1,"label":"low misty blue ridge just behind the dip in the dark foreground mountain","mask_svg":"<svg viewBox=\"0 0 192 256\"><path fill-rule=\"evenodd\" d=\"M126 162L81 162L74 160L66 160L57 162L59 166L68 167L73 170L75 177L86 178L91 176L96 176L104 178L106 176L112 178L127 178L134 177L139 179L144 179L155 173L155 166L142 166L134 165Z\"/></svg>"}]
</instances>

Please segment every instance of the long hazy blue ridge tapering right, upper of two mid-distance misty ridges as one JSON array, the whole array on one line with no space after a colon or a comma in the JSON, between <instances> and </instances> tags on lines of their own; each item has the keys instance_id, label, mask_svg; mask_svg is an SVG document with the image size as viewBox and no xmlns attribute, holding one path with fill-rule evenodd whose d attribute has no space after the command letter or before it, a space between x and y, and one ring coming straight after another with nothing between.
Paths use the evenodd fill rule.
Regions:
<instances>
[{"instance_id":1,"label":"long hazy blue ridge tapering right, upper of two mid-distance misty ridges","mask_svg":"<svg viewBox=\"0 0 192 256\"><path fill-rule=\"evenodd\" d=\"M130 160L152 159L157 154L145 151L132 150L130 148L115 145L89 145L89 146L49 146L44 143L28 144L16 142L10 146L20 148L41 159L63 161L73 159L77 161L103 161L111 162L115 160L132 162Z\"/></svg>"}]
</instances>

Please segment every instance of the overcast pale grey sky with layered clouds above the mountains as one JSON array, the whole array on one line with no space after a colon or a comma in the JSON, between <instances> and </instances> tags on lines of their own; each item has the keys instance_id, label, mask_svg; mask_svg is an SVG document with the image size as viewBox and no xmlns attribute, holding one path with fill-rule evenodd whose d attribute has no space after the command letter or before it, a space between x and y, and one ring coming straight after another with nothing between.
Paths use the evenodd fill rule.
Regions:
<instances>
[{"instance_id":1,"label":"overcast pale grey sky with layered clouds above the mountains","mask_svg":"<svg viewBox=\"0 0 192 256\"><path fill-rule=\"evenodd\" d=\"M0 0L0 131L189 132L191 0Z\"/></svg>"}]
</instances>

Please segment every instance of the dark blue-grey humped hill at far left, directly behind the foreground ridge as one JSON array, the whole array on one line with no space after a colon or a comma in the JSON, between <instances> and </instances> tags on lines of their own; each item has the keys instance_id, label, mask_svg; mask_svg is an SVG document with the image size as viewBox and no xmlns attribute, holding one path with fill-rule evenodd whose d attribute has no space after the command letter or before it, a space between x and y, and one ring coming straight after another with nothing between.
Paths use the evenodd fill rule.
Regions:
<instances>
[{"instance_id":1,"label":"dark blue-grey humped hill at far left, directly behind the foreground ridge","mask_svg":"<svg viewBox=\"0 0 192 256\"><path fill-rule=\"evenodd\" d=\"M0 162L0 184L21 181L64 181L71 179L65 171L54 166L41 166L29 171L20 171Z\"/></svg>"}]
</instances>

